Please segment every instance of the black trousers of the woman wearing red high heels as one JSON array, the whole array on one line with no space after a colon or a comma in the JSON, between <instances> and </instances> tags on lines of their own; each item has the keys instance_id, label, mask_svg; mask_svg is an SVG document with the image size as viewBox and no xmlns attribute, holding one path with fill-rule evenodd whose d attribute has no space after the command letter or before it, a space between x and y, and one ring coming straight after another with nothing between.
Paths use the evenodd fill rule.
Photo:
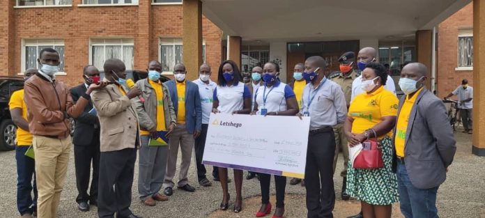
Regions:
<instances>
[{"instance_id":1,"label":"black trousers of the woman wearing red high heels","mask_svg":"<svg viewBox=\"0 0 485 218\"><path fill-rule=\"evenodd\" d=\"M261 186L261 203L270 203L270 182L271 175L266 173L259 174L259 185ZM276 186L276 207L284 208L284 190L286 188L286 176L275 175Z\"/></svg>"}]
</instances>

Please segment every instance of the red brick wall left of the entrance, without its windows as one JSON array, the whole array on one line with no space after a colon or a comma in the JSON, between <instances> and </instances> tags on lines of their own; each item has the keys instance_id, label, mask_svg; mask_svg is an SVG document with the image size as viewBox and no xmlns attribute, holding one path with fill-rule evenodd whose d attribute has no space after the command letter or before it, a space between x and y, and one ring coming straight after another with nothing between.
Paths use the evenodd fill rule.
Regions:
<instances>
[{"instance_id":1,"label":"red brick wall left of the entrance, without its windows","mask_svg":"<svg viewBox=\"0 0 485 218\"><path fill-rule=\"evenodd\" d=\"M14 1L15 2L15 1ZM0 75L17 75L23 72L22 39L58 38L64 40L66 76L58 79L74 86L82 82L82 69L89 63L90 38L133 38L134 69L145 70L149 60L159 60L160 37L182 38L182 6L151 6L150 0L140 1L139 6L77 7L82 0L73 0L68 8L15 8L10 16L1 6L0 66L8 71ZM8 17L8 19L3 19ZM2 53L6 46L8 22L13 27L8 39L13 49ZM222 31L203 17L203 38L206 40L206 59L210 65L221 63ZM8 44L7 44L8 46ZM102 70L102 69L100 69Z\"/></svg>"}]
</instances>

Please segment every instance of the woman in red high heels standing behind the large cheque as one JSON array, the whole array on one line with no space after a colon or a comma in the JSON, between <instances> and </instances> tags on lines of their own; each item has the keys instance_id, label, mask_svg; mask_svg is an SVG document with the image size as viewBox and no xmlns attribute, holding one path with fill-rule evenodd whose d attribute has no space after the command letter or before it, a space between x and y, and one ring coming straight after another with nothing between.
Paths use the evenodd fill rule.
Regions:
<instances>
[{"instance_id":1,"label":"woman in red high heels standing behind the large cheque","mask_svg":"<svg viewBox=\"0 0 485 218\"><path fill-rule=\"evenodd\" d=\"M263 68L264 85L256 90L254 111L251 114L262 116L295 116L298 113L298 102L295 93L290 86L278 79L279 65L268 62ZM261 185L261 208L256 212L256 217L264 217L271 212L270 181L271 175L259 173ZM283 217L284 192L286 176L275 175L276 186L276 210L273 218Z\"/></svg>"}]
</instances>

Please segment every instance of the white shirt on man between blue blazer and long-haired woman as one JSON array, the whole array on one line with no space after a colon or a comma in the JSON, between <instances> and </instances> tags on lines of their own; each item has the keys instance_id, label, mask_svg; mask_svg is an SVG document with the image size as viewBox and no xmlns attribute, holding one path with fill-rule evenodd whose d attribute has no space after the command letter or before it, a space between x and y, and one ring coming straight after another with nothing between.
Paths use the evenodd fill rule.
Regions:
<instances>
[{"instance_id":1,"label":"white shirt on man between blue blazer and long-haired woman","mask_svg":"<svg viewBox=\"0 0 485 218\"><path fill-rule=\"evenodd\" d=\"M194 80L194 84L199 86L199 95L201 96L202 104L202 124L208 124L210 112L212 112L213 107L214 89L217 84L210 79L209 84L206 84L200 78Z\"/></svg>"}]
</instances>

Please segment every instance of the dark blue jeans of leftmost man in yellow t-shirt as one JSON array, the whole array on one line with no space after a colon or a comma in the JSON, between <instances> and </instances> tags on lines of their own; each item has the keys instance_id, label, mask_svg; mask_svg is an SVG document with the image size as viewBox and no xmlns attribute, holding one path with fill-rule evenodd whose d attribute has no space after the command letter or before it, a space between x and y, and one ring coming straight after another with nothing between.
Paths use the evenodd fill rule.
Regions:
<instances>
[{"instance_id":1,"label":"dark blue jeans of leftmost man in yellow t-shirt","mask_svg":"<svg viewBox=\"0 0 485 218\"><path fill-rule=\"evenodd\" d=\"M33 214L37 208L36 162L24 155L27 149L29 149L29 146L15 146L15 159L17 160L17 209L20 215L25 213Z\"/></svg>"}]
</instances>

